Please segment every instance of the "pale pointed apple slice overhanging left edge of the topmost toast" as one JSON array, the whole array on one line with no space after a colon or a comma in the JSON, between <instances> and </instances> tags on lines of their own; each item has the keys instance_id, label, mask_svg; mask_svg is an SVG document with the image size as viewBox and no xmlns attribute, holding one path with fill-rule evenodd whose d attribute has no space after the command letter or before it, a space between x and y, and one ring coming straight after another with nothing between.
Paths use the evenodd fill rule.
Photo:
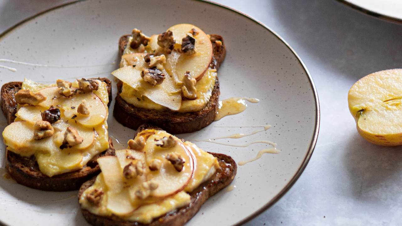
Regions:
<instances>
[{"instance_id":1,"label":"pale pointed apple slice overhanging left edge of the topmost toast","mask_svg":"<svg viewBox=\"0 0 402 226\"><path fill-rule=\"evenodd\" d=\"M113 76L128 84L151 101L172 110L180 109L181 92L172 78L165 72L165 79L160 85L152 86L141 77L141 70L127 66L112 72Z\"/></svg>"}]
</instances>

